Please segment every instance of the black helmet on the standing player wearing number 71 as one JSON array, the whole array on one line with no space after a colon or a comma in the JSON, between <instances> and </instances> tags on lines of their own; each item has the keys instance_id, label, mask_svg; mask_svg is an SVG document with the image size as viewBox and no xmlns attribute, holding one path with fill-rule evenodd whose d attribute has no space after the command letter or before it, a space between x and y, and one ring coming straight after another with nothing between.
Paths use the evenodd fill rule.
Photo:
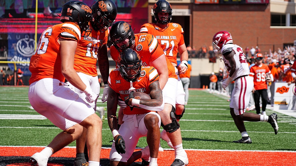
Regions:
<instances>
[{"instance_id":1,"label":"black helmet on the standing player wearing number 71","mask_svg":"<svg viewBox=\"0 0 296 166\"><path fill-rule=\"evenodd\" d=\"M157 1L154 6L153 6L153 14L154 14L154 18L155 21L162 24L162 25L166 25L168 23L170 23L170 21L172 20L172 6L170 6L170 3L168 3L165 0L159 0ZM168 13L168 17L159 17L158 13Z\"/></svg>"}]
</instances>

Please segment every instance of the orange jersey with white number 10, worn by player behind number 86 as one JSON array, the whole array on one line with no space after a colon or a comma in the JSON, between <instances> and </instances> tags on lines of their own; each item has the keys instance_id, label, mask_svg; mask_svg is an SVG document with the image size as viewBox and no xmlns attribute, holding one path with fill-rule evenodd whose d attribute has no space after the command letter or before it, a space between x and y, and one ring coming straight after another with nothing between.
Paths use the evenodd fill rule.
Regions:
<instances>
[{"instance_id":1,"label":"orange jersey with white number 10, worn by player behind number 86","mask_svg":"<svg viewBox=\"0 0 296 166\"><path fill-rule=\"evenodd\" d=\"M89 23L91 26L91 23ZM88 37L82 36L78 42L75 57L74 69L93 77L97 76L96 61L98 49L100 46L107 44L109 29L104 32L92 30Z\"/></svg>"}]
</instances>

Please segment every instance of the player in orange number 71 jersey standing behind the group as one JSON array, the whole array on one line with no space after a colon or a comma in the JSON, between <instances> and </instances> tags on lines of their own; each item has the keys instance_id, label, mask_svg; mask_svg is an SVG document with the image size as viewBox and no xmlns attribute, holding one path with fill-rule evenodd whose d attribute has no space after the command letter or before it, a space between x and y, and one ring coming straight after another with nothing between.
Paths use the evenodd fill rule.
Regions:
<instances>
[{"instance_id":1,"label":"player in orange number 71 jersey standing behind the group","mask_svg":"<svg viewBox=\"0 0 296 166\"><path fill-rule=\"evenodd\" d=\"M153 14L155 23L147 23L141 26L140 32L152 34L157 38L158 44L163 49L165 56L175 67L175 72L178 76L178 87L176 95L176 119L179 121L185 112L185 92L183 84L179 77L188 69L188 52L184 42L183 28L177 23L170 22L172 19L172 7L165 0L157 1L153 6ZM181 64L177 66L177 53L179 52ZM178 71L178 67L180 71ZM163 130L160 137L168 142L168 145L173 148L173 145ZM161 148L161 147L160 147ZM162 148L161 148L162 149Z\"/></svg>"}]
</instances>

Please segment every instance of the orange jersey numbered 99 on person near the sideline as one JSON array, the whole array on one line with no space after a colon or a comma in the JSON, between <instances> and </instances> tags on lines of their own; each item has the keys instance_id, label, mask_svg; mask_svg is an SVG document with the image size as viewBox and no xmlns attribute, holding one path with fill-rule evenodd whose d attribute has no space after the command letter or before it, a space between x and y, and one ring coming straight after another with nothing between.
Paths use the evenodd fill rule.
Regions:
<instances>
[{"instance_id":1,"label":"orange jersey numbered 99 on person near the sideline","mask_svg":"<svg viewBox=\"0 0 296 166\"><path fill-rule=\"evenodd\" d=\"M250 69L250 76L254 77L254 88L256 90L267 89L265 74L270 73L270 70L266 64L258 66L257 64Z\"/></svg>"}]
</instances>

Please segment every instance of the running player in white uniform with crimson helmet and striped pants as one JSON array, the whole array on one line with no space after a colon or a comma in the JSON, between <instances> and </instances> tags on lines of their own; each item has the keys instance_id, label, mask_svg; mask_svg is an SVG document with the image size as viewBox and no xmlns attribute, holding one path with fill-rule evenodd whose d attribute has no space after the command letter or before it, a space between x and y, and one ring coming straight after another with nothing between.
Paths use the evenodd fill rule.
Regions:
<instances>
[{"instance_id":1,"label":"running player in white uniform with crimson helmet and striped pants","mask_svg":"<svg viewBox=\"0 0 296 166\"><path fill-rule=\"evenodd\" d=\"M252 143L244 126L244 121L269 122L274 128L274 134L277 134L279 126L277 124L277 115L275 113L267 116L245 112L254 86L252 80L254 77L249 76L250 69L242 48L233 44L232 36L229 32L220 31L213 36L213 49L215 53L221 51L224 64L229 71L229 77L223 81L222 88L225 89L232 81L234 81L234 89L231 93L229 107L230 114L242 135L242 139L233 142L246 144Z\"/></svg>"}]
</instances>

